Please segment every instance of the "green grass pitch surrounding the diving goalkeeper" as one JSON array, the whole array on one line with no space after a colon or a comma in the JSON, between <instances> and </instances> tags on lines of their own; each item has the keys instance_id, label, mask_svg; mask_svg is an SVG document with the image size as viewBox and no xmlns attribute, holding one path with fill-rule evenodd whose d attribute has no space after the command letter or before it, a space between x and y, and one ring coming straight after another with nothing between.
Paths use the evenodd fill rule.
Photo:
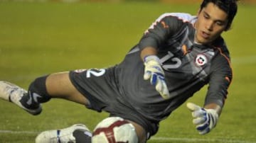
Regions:
<instances>
[{"instance_id":1,"label":"green grass pitch surrounding the diving goalkeeper","mask_svg":"<svg viewBox=\"0 0 256 143\"><path fill-rule=\"evenodd\" d=\"M0 2L0 80L23 88L37 76L58 71L108 67L121 62L151 23L165 12L195 14L199 4ZM158 142L256 142L256 21L253 5L240 4L233 29L223 33L233 57L233 84L218 126L198 135L185 105L161 122ZM206 88L189 101L203 104ZM34 142L38 132L84 123L90 130L107 117L64 100L43 104L28 115L0 101L0 142Z\"/></svg>"}]
</instances>

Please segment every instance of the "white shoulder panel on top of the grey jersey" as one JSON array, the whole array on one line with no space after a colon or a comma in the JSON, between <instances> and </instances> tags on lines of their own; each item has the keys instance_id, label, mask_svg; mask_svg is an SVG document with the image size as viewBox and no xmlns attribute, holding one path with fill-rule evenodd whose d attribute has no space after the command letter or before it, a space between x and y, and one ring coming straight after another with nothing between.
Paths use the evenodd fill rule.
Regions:
<instances>
[{"instance_id":1,"label":"white shoulder panel on top of the grey jersey","mask_svg":"<svg viewBox=\"0 0 256 143\"><path fill-rule=\"evenodd\" d=\"M191 14L189 13L164 13L161 16L159 16L157 20L161 21L161 19L164 19L166 17L176 18L183 22L188 22L188 23L195 23L197 19L196 16L191 16Z\"/></svg>"}]
</instances>

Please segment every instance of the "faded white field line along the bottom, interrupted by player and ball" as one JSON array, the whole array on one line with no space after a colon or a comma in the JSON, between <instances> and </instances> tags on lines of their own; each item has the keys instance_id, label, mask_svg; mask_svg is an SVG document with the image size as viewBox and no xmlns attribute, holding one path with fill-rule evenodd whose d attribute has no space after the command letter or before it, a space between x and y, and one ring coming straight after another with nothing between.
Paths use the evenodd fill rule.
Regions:
<instances>
[{"instance_id":1,"label":"faded white field line along the bottom, interrupted by player and ball","mask_svg":"<svg viewBox=\"0 0 256 143\"><path fill-rule=\"evenodd\" d=\"M0 134L35 134L39 132L35 131L12 131L12 130L0 130ZM166 142L225 142L225 143L256 143L253 141L245 141L238 139L200 139L200 138L186 138L186 137L151 137L150 140L166 141Z\"/></svg>"}]
</instances>

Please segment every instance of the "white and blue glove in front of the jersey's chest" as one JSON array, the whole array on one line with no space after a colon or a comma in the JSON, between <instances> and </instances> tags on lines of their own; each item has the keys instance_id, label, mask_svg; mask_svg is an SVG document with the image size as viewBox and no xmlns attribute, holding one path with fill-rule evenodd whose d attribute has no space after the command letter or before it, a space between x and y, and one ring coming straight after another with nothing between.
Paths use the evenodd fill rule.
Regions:
<instances>
[{"instance_id":1,"label":"white and blue glove in front of the jersey's chest","mask_svg":"<svg viewBox=\"0 0 256 143\"><path fill-rule=\"evenodd\" d=\"M144 80L150 79L151 85L156 86L156 91L163 98L170 98L169 90L164 80L164 70L161 68L159 57L156 57L156 55L144 57L144 66Z\"/></svg>"}]
</instances>

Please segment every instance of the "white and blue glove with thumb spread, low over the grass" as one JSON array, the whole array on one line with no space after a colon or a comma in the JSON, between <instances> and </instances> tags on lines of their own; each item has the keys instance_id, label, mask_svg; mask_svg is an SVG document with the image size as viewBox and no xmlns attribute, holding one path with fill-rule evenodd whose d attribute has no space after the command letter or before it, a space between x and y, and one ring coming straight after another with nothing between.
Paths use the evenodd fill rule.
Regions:
<instances>
[{"instance_id":1,"label":"white and blue glove with thumb spread, low over the grass","mask_svg":"<svg viewBox=\"0 0 256 143\"><path fill-rule=\"evenodd\" d=\"M214 109L201 108L194 103L187 103L187 107L192 112L193 124L196 125L196 130L200 135L213 130L218 122L218 113Z\"/></svg>"}]
</instances>

